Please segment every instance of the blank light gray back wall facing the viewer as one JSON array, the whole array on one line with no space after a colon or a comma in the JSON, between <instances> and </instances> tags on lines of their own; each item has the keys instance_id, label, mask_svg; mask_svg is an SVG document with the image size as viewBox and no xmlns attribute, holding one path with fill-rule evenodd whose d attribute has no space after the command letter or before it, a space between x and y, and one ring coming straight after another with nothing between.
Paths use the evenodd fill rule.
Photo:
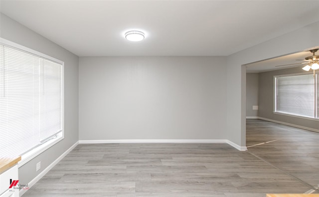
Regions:
<instances>
[{"instance_id":1,"label":"blank light gray back wall facing the viewer","mask_svg":"<svg viewBox=\"0 0 319 197\"><path fill-rule=\"evenodd\" d=\"M225 57L80 57L80 140L225 139Z\"/></svg>"}]
</instances>

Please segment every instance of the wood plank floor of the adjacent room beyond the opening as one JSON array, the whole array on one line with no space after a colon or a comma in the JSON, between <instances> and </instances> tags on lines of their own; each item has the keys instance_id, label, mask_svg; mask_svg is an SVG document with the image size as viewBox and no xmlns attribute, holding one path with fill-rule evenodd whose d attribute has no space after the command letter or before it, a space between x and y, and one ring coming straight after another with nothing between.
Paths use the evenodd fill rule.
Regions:
<instances>
[{"instance_id":1,"label":"wood plank floor of the adjacent room beyond the opening","mask_svg":"<svg viewBox=\"0 0 319 197\"><path fill-rule=\"evenodd\" d=\"M319 187L319 133L248 119L246 140L250 153L313 187Z\"/></svg>"}]
</instances>

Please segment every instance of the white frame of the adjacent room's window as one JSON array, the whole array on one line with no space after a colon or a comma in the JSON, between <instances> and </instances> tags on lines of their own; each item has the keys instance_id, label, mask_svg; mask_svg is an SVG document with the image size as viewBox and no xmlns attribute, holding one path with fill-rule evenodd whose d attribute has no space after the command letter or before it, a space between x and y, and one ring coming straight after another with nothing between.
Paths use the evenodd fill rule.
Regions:
<instances>
[{"instance_id":1,"label":"white frame of the adjacent room's window","mask_svg":"<svg viewBox=\"0 0 319 197\"><path fill-rule=\"evenodd\" d=\"M316 79L319 77L319 73L315 72L316 74ZM282 111L277 111L277 78L278 77L290 77L290 76L302 76L302 75L313 75L313 72L301 72L301 73L292 73L292 74L282 74L282 75L274 75L274 109L273 113L274 114L279 114L279 115L285 115L285 116L291 116L291 117L296 117L296 118L303 118L303 119L308 119L308 120L315 120L319 121L319 116L316 118L316 116L306 116L306 115L300 115L300 114L294 114L294 113L289 113L289 112L282 112ZM317 88L319 84L315 83L314 88ZM316 94L318 96L318 93L315 91L315 104L318 106L317 100L316 99ZM315 107L315 113L318 114L317 112L317 106Z\"/></svg>"}]
</instances>

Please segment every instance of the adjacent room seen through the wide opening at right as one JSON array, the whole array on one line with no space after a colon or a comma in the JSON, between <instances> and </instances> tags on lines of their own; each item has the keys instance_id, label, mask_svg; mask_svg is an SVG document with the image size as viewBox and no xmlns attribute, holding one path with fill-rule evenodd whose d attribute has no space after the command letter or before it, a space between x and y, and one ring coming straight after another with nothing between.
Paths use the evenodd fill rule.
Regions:
<instances>
[{"instance_id":1,"label":"adjacent room seen through the wide opening at right","mask_svg":"<svg viewBox=\"0 0 319 197\"><path fill-rule=\"evenodd\" d=\"M246 65L248 152L312 186L319 176L319 77L307 59L319 57L318 48Z\"/></svg>"}]
</instances>

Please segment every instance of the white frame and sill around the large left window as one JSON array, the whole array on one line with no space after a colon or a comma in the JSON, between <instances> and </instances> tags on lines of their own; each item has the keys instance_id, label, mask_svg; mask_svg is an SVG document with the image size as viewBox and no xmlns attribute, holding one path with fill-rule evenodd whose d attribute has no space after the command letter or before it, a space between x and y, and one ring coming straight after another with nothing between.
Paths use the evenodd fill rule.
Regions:
<instances>
[{"instance_id":1,"label":"white frame and sill around the large left window","mask_svg":"<svg viewBox=\"0 0 319 197\"><path fill-rule=\"evenodd\" d=\"M57 144L58 142L60 142L61 140L64 139L64 62L56 59L54 57L51 57L49 55L46 55L44 53L41 53L39 51L33 50L31 48L25 47L23 45L17 44L15 42L9 41L7 39L4 39L2 37L0 37L0 44L4 45L4 46L8 46L8 47L13 47L17 50L21 50L27 53L31 53L32 55L36 55L39 56L41 58L44 59L48 59L50 61L54 61L58 64L61 64L62 66L62 76L61 76L61 80L62 80L62 113L61 113L61 118L62 118L62 131L59 132L56 137L53 137L49 140L47 140L46 142L44 142L43 144L33 148L32 150L28 151L27 153L24 153L23 155L21 155L21 161L18 162L18 167L23 166L24 164L26 164L27 162L29 162L30 160L32 160L33 158L35 158L36 156L40 155L41 153L43 153L44 151L46 151L47 149L49 149L50 147L52 147L53 145Z\"/></svg>"}]
</instances>

